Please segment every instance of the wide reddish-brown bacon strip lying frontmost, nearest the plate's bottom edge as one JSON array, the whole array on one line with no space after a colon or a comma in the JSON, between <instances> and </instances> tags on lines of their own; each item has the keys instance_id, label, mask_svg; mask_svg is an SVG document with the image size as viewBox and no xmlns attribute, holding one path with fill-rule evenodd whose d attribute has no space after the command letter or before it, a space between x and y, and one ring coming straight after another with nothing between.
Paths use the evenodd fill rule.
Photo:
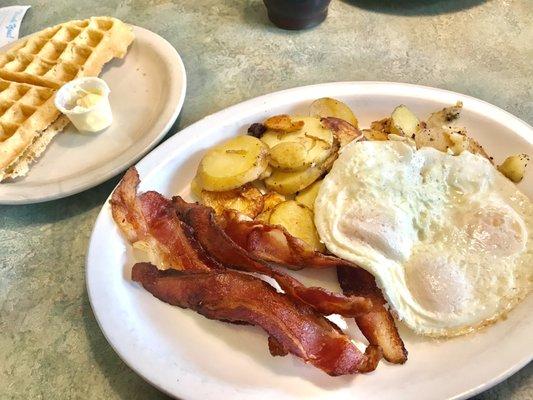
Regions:
<instances>
[{"instance_id":1,"label":"wide reddish-brown bacon strip lying frontmost, nearest the plate's bottom edge","mask_svg":"<svg viewBox=\"0 0 533 400\"><path fill-rule=\"evenodd\" d=\"M166 303L210 319L260 326L270 336L273 355L294 354L332 376L372 371L381 357L376 346L362 354L328 320L250 275L160 271L139 263L133 266L132 279Z\"/></svg>"}]
</instances>

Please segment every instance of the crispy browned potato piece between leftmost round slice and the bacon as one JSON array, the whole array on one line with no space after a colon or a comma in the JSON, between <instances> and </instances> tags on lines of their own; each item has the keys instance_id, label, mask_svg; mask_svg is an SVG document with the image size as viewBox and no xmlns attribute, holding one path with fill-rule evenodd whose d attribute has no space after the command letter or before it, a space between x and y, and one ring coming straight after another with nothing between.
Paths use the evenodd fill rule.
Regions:
<instances>
[{"instance_id":1,"label":"crispy browned potato piece between leftmost round slice and the bacon","mask_svg":"<svg viewBox=\"0 0 533 400\"><path fill-rule=\"evenodd\" d=\"M212 207L217 214L224 210L236 210L254 218L263 211L263 194L252 184L224 192L202 190L200 202Z\"/></svg>"}]
</instances>

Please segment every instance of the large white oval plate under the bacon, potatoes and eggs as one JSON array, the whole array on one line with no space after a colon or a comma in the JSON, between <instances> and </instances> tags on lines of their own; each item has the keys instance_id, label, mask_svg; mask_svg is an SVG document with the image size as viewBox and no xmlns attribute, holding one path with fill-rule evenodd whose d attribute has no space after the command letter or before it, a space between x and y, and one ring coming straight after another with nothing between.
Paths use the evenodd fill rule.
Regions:
<instances>
[{"instance_id":1,"label":"large white oval plate under the bacon, potatoes and eggs","mask_svg":"<svg viewBox=\"0 0 533 400\"><path fill-rule=\"evenodd\" d=\"M511 114L472 97L399 83L329 83L262 96L218 112L184 129L138 163L141 190L190 198L189 182L202 153L248 125L276 113L305 113L312 100L347 102L362 126L389 115L398 104L426 116L464 103L461 122L497 161L533 154L533 129ZM520 187L533 197L533 168ZM130 280L133 263L106 202L87 254L90 301L107 340L122 359L153 385L191 399L459 399L505 379L533 356L533 296L482 332L432 340L401 328L409 350L405 365L380 363L367 375L332 378L293 356L271 357L259 328L208 320L167 305ZM337 287L333 271L305 271L306 283ZM348 330L359 336L348 322Z\"/></svg>"}]
</instances>

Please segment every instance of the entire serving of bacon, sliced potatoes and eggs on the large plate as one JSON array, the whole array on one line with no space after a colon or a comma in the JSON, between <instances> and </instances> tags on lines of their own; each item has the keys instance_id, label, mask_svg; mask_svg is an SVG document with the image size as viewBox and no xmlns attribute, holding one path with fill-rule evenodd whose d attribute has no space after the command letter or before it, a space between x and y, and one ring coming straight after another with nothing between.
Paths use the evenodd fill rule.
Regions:
<instances>
[{"instance_id":1,"label":"entire serving of bacon, sliced potatoes and eggs on the large plate","mask_svg":"<svg viewBox=\"0 0 533 400\"><path fill-rule=\"evenodd\" d=\"M139 194L130 169L111 204L150 261L132 279L169 304L257 325L272 355L333 376L405 363L395 318L437 337L496 321L532 280L533 205L511 182L528 157L496 168L453 125L461 109L424 121L399 105L360 130L347 105L319 99L310 117L276 115L208 150L191 182L201 204ZM343 294L280 268L335 268ZM364 353L332 314L354 318Z\"/></svg>"}]
</instances>

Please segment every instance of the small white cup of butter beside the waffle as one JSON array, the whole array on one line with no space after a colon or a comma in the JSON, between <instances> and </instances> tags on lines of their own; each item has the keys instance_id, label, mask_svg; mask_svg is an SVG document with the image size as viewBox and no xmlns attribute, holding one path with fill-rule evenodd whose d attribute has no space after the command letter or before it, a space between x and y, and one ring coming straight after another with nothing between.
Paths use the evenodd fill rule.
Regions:
<instances>
[{"instance_id":1,"label":"small white cup of butter beside the waffle","mask_svg":"<svg viewBox=\"0 0 533 400\"><path fill-rule=\"evenodd\" d=\"M99 78L79 78L59 89L56 107L79 131L98 132L113 122L109 87Z\"/></svg>"}]
</instances>

